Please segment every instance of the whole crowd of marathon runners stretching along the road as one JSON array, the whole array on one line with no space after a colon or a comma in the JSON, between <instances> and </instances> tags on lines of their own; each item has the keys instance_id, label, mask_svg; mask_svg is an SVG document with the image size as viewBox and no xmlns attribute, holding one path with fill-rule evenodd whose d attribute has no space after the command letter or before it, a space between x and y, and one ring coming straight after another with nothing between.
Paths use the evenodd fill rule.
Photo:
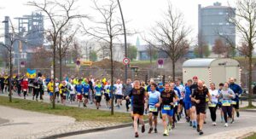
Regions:
<instances>
[{"instance_id":1,"label":"whole crowd of marathon runners stretching along the road","mask_svg":"<svg viewBox=\"0 0 256 139\"><path fill-rule=\"evenodd\" d=\"M157 133L158 117L163 122L163 136L177 126L177 121L185 118L192 129L196 129L199 135L203 134L203 125L206 124L207 109L209 109L212 126L217 125L217 109L220 109L219 118L221 123L227 127L234 123L235 115L239 117L239 96L241 87L236 84L235 78L222 84L204 84L200 78L194 77L183 83L182 80L166 83L155 83L153 79L144 82L138 79L126 82L116 79L114 84L106 78L67 78L62 81L55 78L26 78L8 75L0 76L0 91L2 93L14 90L21 97L32 95L32 99L44 100L44 93L48 93L50 101L57 101L63 105L67 103L78 104L79 107L87 107L94 104L99 109L102 98L106 106L111 108L111 100L114 106L119 108L125 101L127 112L131 112L134 121L135 137L138 137L138 124L142 125L145 132L143 115L148 115L148 133ZM10 85L9 85L10 84ZM55 88L55 92L54 92ZM111 96L113 90L113 96ZM55 96L55 100L54 100Z\"/></svg>"}]
</instances>

